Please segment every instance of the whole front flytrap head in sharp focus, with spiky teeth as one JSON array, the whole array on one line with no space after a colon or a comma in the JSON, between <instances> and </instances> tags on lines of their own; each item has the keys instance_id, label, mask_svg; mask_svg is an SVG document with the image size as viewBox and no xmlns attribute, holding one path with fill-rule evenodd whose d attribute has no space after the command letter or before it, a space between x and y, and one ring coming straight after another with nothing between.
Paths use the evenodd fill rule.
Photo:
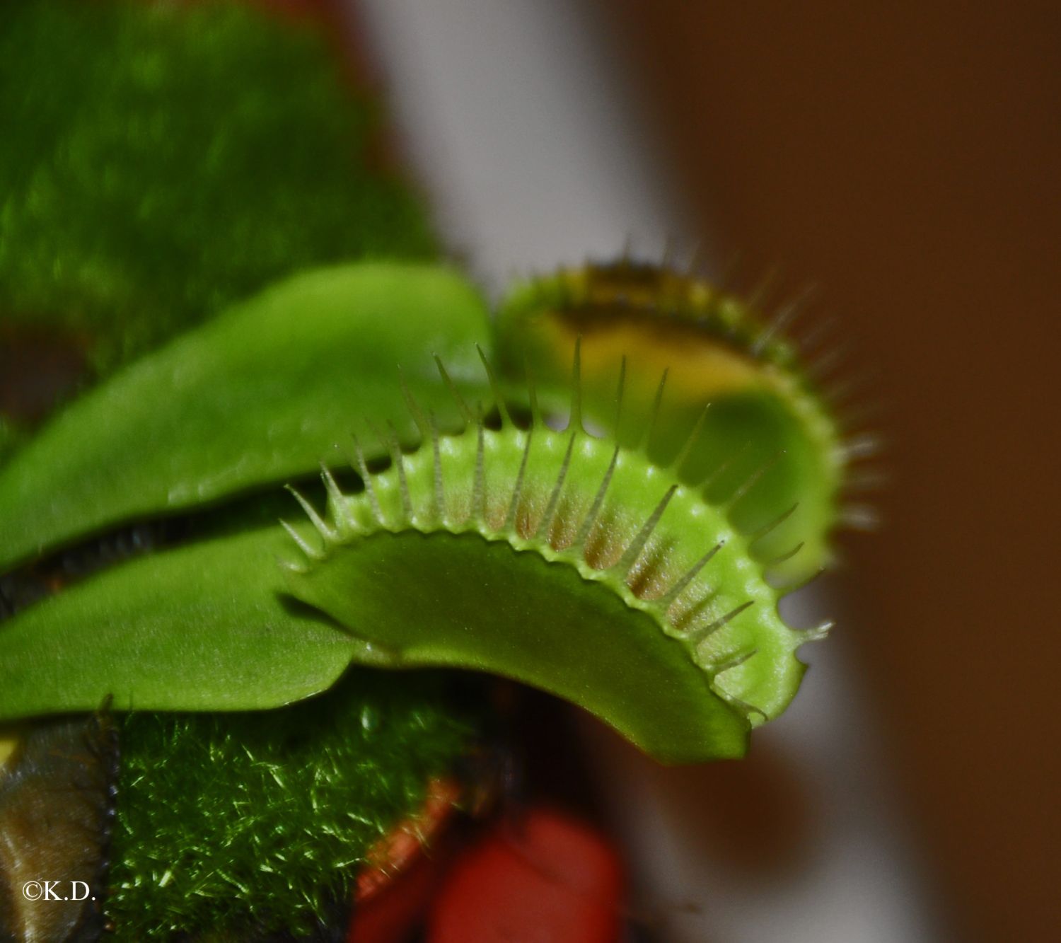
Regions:
<instances>
[{"instance_id":1,"label":"whole front flytrap head in sharp focus, with spiky teeth","mask_svg":"<svg viewBox=\"0 0 1061 943\"><path fill-rule=\"evenodd\" d=\"M419 449L392 443L392 467L372 473L351 443L364 490L325 472L326 514L300 499L313 528L290 528L292 592L372 664L515 678L669 762L741 755L784 710L795 651L820 630L783 624L732 506L587 433L577 392L561 432L535 408L523 429L502 406L493 429L466 406L464 432L443 436L413 407Z\"/></svg>"}]
</instances>

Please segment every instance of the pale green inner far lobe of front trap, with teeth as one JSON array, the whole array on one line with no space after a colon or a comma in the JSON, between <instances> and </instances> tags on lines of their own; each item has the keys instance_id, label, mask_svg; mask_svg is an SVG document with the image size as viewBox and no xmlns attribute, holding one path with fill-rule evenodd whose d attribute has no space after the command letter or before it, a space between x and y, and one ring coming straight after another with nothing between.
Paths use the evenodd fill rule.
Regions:
<instances>
[{"instance_id":1,"label":"pale green inner far lobe of front trap, with teeth","mask_svg":"<svg viewBox=\"0 0 1061 943\"><path fill-rule=\"evenodd\" d=\"M327 565L328 557L342 553L344 544L377 534L477 532L487 541L507 541L521 553L537 552L551 563L573 565L586 580L607 586L628 609L648 613L661 634L669 638L668 644L681 645L689 662L706 674L709 687L748 716L759 711L753 703L765 705L771 716L784 706L785 695L779 691L786 689L788 681L773 679L798 678L793 667L796 648L823 636L827 627L804 632L784 627L777 614L780 591L766 579L769 564L753 552L755 541L788 520L796 508L751 534L741 532L730 521L729 508L754 487L769 462L728 502L712 503L703 490L682 487L677 481L675 466L684 460L685 449L669 467L654 466L643 452L624 450L586 432L574 406L566 431L545 425L537 409L532 411L529 427L519 429L504 408L495 381L502 426L488 429L482 406L469 409L440 360L437 365L441 382L451 386L465 412L464 432L443 436L434 414L420 409L406 388L410 413L423 435L417 450L402 452L394 425L381 435L369 423L385 442L392 465L373 473L353 438L351 464L364 482L363 493L344 495L331 472L323 469L330 509L326 520L293 491L324 543L321 548L305 531L284 524L310 572ZM578 376L576 363L573 398ZM665 380L664 373L654 413L659 412ZM707 411L701 413L690 440L699 434L706 415ZM727 467L728 462L718 462L715 475ZM727 553L719 556L724 546ZM771 562L783 562L795 552ZM709 579L705 572L716 558ZM724 642L713 641L756 603L754 612L725 633ZM719 616L720 611L725 614ZM761 646L767 639L769 644ZM719 659L713 651L719 647L738 653ZM716 689L720 674L761 650L769 652L761 656L772 660L769 666L731 676L734 680L725 692Z\"/></svg>"}]
</instances>

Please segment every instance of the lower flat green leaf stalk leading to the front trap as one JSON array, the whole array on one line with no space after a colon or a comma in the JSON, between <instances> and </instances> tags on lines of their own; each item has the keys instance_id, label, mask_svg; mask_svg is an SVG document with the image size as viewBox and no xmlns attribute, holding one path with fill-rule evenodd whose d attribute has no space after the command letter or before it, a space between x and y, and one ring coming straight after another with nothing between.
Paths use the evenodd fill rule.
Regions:
<instances>
[{"instance_id":1,"label":"lower flat green leaf stalk leading to the front trap","mask_svg":"<svg viewBox=\"0 0 1061 943\"><path fill-rule=\"evenodd\" d=\"M361 643L284 599L277 527L134 560L0 626L0 719L256 710L331 686Z\"/></svg>"}]
</instances>

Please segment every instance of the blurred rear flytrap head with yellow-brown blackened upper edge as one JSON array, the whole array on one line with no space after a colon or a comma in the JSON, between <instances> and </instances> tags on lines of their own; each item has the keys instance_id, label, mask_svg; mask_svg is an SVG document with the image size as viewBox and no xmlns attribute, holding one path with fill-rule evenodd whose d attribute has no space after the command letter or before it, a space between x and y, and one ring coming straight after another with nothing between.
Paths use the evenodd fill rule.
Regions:
<instances>
[{"instance_id":1,"label":"blurred rear flytrap head with yellow-brown blackened upper edge","mask_svg":"<svg viewBox=\"0 0 1061 943\"><path fill-rule=\"evenodd\" d=\"M517 284L494 321L494 346L503 376L522 378L529 367L543 403L559 408L580 340L586 412L595 423L611 421L614 376L624 364L619 440L636 443L654 423L647 454L668 464L701 425L682 483L711 475L707 493L721 502L759 474L735 522L749 530L777 522L762 548L780 558L801 544L778 571L802 579L832 559L847 453L829 404L782 336L792 311L770 320L691 274L622 259Z\"/></svg>"}]
</instances>

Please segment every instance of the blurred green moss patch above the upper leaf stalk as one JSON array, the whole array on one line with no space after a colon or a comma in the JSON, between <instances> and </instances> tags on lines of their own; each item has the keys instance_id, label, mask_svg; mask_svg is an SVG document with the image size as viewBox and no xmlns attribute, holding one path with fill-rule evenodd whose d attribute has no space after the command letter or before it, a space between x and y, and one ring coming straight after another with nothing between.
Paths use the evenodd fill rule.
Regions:
<instances>
[{"instance_id":1,"label":"blurred green moss patch above the upper leaf stalk","mask_svg":"<svg viewBox=\"0 0 1061 943\"><path fill-rule=\"evenodd\" d=\"M307 265L433 255L335 58L244 4L2 4L0 319L107 370Z\"/></svg>"}]
</instances>

